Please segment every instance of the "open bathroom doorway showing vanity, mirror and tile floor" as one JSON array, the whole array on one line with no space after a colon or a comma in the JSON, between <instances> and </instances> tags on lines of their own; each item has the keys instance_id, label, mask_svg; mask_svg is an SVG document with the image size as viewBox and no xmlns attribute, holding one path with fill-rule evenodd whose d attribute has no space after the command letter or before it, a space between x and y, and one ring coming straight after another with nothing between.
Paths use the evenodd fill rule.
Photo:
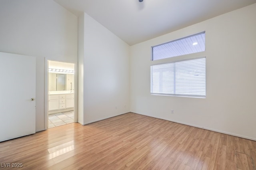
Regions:
<instances>
[{"instance_id":1,"label":"open bathroom doorway showing vanity, mirror and tile floor","mask_svg":"<svg viewBox=\"0 0 256 170\"><path fill-rule=\"evenodd\" d=\"M48 128L75 122L75 64L48 60Z\"/></svg>"}]
</instances>

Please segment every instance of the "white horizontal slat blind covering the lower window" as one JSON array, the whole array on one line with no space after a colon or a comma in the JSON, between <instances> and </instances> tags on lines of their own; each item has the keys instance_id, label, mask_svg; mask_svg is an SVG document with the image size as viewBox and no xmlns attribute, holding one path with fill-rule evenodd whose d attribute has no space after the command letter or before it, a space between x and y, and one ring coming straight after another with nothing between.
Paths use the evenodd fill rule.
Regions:
<instances>
[{"instance_id":1,"label":"white horizontal slat blind covering the lower window","mask_svg":"<svg viewBox=\"0 0 256 170\"><path fill-rule=\"evenodd\" d=\"M206 58L151 65L151 94L206 96Z\"/></svg>"}]
</instances>

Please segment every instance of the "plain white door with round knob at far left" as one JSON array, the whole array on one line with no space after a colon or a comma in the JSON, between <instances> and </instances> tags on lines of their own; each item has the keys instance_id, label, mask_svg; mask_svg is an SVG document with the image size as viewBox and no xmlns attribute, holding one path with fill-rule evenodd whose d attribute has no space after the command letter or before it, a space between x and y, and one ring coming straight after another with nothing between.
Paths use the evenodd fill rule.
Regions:
<instances>
[{"instance_id":1,"label":"plain white door with round knob at far left","mask_svg":"<svg viewBox=\"0 0 256 170\"><path fill-rule=\"evenodd\" d=\"M36 132L36 57L0 52L0 142Z\"/></svg>"}]
</instances>

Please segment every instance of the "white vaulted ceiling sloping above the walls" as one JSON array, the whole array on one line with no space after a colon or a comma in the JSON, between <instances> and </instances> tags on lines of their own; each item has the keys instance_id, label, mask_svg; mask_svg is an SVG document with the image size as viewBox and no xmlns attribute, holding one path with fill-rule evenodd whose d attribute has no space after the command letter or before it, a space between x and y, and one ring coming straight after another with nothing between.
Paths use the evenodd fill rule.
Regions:
<instances>
[{"instance_id":1,"label":"white vaulted ceiling sloping above the walls","mask_svg":"<svg viewBox=\"0 0 256 170\"><path fill-rule=\"evenodd\" d=\"M129 45L236 10L256 0L54 0L85 12Z\"/></svg>"}]
</instances>

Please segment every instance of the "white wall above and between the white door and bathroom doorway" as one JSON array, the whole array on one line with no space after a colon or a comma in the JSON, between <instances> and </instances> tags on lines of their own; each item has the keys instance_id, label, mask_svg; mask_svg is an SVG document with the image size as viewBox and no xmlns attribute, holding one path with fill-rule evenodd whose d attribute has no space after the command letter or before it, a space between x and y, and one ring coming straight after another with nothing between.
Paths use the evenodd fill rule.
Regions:
<instances>
[{"instance_id":1,"label":"white wall above and between the white door and bathroom doorway","mask_svg":"<svg viewBox=\"0 0 256 170\"><path fill-rule=\"evenodd\" d=\"M53 0L1 0L0 51L36 57L36 131L44 130L45 58L77 62L78 18Z\"/></svg>"}]
</instances>

